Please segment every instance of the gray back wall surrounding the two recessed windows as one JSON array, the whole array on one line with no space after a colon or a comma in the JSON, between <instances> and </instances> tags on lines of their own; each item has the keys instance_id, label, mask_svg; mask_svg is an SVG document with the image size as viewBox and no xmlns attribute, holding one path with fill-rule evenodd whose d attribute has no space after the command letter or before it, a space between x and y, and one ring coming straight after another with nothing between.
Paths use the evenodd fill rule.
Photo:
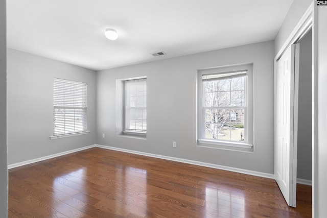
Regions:
<instances>
[{"instance_id":1,"label":"gray back wall surrounding the two recessed windows","mask_svg":"<svg viewBox=\"0 0 327 218\"><path fill-rule=\"evenodd\" d=\"M273 53L273 41L268 41L98 71L97 143L273 174ZM197 69L240 63L254 67L254 152L197 147ZM115 132L116 79L139 76L147 76L148 84L146 140Z\"/></svg>"}]
</instances>

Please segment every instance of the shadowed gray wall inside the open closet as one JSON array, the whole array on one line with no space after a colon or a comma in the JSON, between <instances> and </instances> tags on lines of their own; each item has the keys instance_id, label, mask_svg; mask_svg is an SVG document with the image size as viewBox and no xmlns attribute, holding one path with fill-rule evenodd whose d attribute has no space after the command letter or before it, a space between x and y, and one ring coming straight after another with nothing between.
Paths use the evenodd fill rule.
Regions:
<instances>
[{"instance_id":1,"label":"shadowed gray wall inside the open closet","mask_svg":"<svg viewBox=\"0 0 327 218\"><path fill-rule=\"evenodd\" d=\"M300 41L297 178L312 179L312 31Z\"/></svg>"}]
</instances>

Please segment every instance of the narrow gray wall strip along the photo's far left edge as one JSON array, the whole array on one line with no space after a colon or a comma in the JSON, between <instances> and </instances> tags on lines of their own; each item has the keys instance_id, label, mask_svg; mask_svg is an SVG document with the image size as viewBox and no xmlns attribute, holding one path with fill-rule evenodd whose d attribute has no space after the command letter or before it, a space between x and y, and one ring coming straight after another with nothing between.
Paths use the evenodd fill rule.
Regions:
<instances>
[{"instance_id":1,"label":"narrow gray wall strip along the photo's far left edge","mask_svg":"<svg viewBox=\"0 0 327 218\"><path fill-rule=\"evenodd\" d=\"M6 0L0 0L0 217L7 217Z\"/></svg>"}]
</instances>

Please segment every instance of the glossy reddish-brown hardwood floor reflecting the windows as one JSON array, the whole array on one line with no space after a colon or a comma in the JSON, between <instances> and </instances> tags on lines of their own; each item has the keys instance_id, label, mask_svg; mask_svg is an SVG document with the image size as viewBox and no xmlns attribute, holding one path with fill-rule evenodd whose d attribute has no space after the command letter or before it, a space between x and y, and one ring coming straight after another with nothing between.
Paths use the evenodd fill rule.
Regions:
<instances>
[{"instance_id":1,"label":"glossy reddish-brown hardwood floor reflecting the windows","mask_svg":"<svg viewBox=\"0 0 327 218\"><path fill-rule=\"evenodd\" d=\"M100 148L9 170L9 217L311 217L272 179Z\"/></svg>"}]
</instances>

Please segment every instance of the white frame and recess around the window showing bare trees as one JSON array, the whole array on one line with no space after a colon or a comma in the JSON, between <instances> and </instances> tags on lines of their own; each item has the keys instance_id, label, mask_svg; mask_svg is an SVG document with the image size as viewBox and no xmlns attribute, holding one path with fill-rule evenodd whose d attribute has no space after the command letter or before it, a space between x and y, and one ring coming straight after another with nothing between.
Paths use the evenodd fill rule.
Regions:
<instances>
[{"instance_id":1,"label":"white frame and recess around the window showing bare trees","mask_svg":"<svg viewBox=\"0 0 327 218\"><path fill-rule=\"evenodd\" d=\"M220 139L206 139L205 113L203 99L203 75L224 74L227 72L246 71L245 82L245 110L244 137L247 141L229 141ZM252 151L253 149L253 64L240 64L232 66L199 69L197 75L197 146L220 148L228 150Z\"/></svg>"}]
</instances>

